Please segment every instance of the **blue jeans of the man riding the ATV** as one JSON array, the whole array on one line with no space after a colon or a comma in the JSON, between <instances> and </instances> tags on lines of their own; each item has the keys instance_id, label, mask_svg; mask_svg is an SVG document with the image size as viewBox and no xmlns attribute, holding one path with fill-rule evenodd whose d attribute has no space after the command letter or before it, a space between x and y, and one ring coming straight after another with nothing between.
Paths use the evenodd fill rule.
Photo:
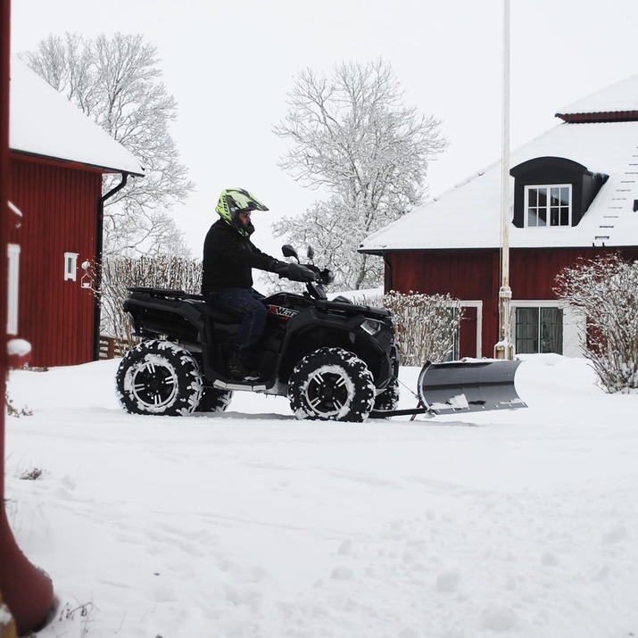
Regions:
<instances>
[{"instance_id":1,"label":"blue jeans of the man riding the ATV","mask_svg":"<svg viewBox=\"0 0 638 638\"><path fill-rule=\"evenodd\" d=\"M254 288L220 288L207 293L204 299L207 303L236 315L240 324L233 349L240 359L252 359L268 317L266 306L261 302L264 295Z\"/></svg>"}]
</instances>

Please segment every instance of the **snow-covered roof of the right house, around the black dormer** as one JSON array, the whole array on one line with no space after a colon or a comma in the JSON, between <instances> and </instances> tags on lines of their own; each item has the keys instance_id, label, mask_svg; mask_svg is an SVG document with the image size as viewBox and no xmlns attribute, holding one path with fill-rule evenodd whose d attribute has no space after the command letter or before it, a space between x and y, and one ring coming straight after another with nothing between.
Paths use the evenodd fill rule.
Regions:
<instances>
[{"instance_id":1,"label":"snow-covered roof of the right house, around the black dormer","mask_svg":"<svg viewBox=\"0 0 638 638\"><path fill-rule=\"evenodd\" d=\"M631 100L638 97L638 75L610 87L607 99L602 94L585 98L575 103L574 108L633 109ZM510 247L638 244L638 211L634 211L634 202L638 203L638 121L558 124L510 153L510 166L545 156L579 162L592 173L609 175L609 179L576 227L516 228L510 223ZM512 202L513 186L511 178ZM501 162L498 161L368 236L360 244L360 251L383 253L386 250L500 246Z\"/></svg>"}]
</instances>

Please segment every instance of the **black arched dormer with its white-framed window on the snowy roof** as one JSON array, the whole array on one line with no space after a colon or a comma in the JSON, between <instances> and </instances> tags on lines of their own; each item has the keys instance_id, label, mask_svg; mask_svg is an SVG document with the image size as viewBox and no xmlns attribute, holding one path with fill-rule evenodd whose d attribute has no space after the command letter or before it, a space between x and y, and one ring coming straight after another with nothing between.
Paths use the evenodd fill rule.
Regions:
<instances>
[{"instance_id":1,"label":"black arched dormer with its white-framed window on the snowy roof","mask_svg":"<svg viewBox=\"0 0 638 638\"><path fill-rule=\"evenodd\" d=\"M578 226L608 176L565 157L536 157L518 164L514 178L514 226Z\"/></svg>"}]
</instances>

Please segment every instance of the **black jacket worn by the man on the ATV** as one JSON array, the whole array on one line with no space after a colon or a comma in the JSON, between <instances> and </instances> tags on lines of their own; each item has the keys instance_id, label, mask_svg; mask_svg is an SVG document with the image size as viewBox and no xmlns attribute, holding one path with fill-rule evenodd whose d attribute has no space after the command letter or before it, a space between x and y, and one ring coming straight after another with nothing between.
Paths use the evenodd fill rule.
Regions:
<instances>
[{"instance_id":1,"label":"black jacket worn by the man on the ATV","mask_svg":"<svg viewBox=\"0 0 638 638\"><path fill-rule=\"evenodd\" d=\"M277 260L224 220L216 221L203 242L202 294L219 288L250 288L253 268L272 272Z\"/></svg>"}]
</instances>

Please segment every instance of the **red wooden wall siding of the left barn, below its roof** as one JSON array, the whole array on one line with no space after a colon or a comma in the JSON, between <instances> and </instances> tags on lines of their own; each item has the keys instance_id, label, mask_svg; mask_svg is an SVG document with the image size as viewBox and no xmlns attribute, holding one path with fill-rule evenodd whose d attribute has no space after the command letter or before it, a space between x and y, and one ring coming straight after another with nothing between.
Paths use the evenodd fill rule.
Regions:
<instances>
[{"instance_id":1,"label":"red wooden wall siding of the left barn, below its roof","mask_svg":"<svg viewBox=\"0 0 638 638\"><path fill-rule=\"evenodd\" d=\"M94 358L95 302L81 287L80 264L95 259L102 175L12 156L10 197L22 211L10 241L21 245L19 336L31 365L65 366ZM64 253L79 253L76 281L64 281Z\"/></svg>"}]
</instances>

